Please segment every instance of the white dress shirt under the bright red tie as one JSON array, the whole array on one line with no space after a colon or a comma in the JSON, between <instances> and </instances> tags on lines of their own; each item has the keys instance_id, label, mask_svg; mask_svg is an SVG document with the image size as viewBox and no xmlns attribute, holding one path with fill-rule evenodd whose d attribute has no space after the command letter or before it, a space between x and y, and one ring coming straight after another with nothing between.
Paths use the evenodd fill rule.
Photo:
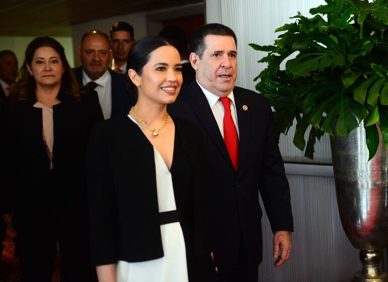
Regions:
<instances>
[{"instance_id":1,"label":"white dress shirt under the bright red tie","mask_svg":"<svg viewBox=\"0 0 388 282\"><path fill-rule=\"evenodd\" d=\"M218 100L218 99L220 99L220 97L218 97L217 95L213 94L212 92L210 92L210 91L206 90L204 87L202 87L202 85L200 84L200 82L198 82L198 80L197 80L197 83L198 83L198 85L200 85L202 91L204 92L204 94L206 96L206 99L209 102L210 109L212 109L213 116L216 119L216 122L217 122L218 128L220 129L222 138L224 138L225 109L224 109L224 106L222 105L222 102ZM233 91L231 91L227 97L230 99L230 111L231 111L232 119L233 119L234 125L236 126L238 138L240 138L240 132L238 131L236 103L234 103Z\"/></svg>"}]
</instances>

